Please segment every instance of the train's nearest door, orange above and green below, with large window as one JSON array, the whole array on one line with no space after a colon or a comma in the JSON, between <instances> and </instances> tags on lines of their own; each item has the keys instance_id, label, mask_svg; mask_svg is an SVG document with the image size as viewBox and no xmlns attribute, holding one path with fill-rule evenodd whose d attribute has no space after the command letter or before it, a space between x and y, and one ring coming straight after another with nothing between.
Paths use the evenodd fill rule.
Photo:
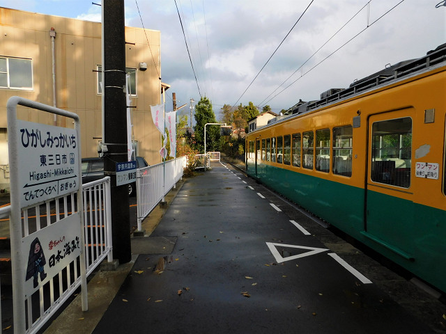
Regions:
<instances>
[{"instance_id":1,"label":"train's nearest door, orange above and green below, with large window","mask_svg":"<svg viewBox=\"0 0 446 334\"><path fill-rule=\"evenodd\" d=\"M413 226L411 109L369 118L364 234L411 259Z\"/></svg>"}]
</instances>

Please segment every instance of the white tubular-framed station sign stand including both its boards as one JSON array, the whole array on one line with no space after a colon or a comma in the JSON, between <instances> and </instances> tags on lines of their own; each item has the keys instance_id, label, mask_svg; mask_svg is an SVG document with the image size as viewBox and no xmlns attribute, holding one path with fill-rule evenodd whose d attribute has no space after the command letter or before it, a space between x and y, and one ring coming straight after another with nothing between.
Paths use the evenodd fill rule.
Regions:
<instances>
[{"instance_id":1,"label":"white tubular-framed station sign stand including both its boards","mask_svg":"<svg viewBox=\"0 0 446 334\"><path fill-rule=\"evenodd\" d=\"M75 129L18 120L17 105L72 118ZM8 100L7 112L14 331L25 333L25 299L56 274L63 258L70 261L80 254L82 310L88 310L80 120L75 113L17 96ZM38 226L31 234L22 231L22 209L74 192L77 193L76 214L42 229ZM69 247L58 245L63 238ZM33 263L32 268L29 263Z\"/></svg>"}]
</instances>

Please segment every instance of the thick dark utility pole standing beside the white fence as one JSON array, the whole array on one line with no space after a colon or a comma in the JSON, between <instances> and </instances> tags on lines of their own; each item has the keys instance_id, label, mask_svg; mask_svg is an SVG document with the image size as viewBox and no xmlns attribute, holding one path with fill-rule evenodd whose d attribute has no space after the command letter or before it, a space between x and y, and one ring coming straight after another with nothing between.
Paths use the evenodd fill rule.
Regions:
<instances>
[{"instance_id":1,"label":"thick dark utility pole standing beside the white fence","mask_svg":"<svg viewBox=\"0 0 446 334\"><path fill-rule=\"evenodd\" d=\"M132 260L130 243L130 211L128 185L116 186L116 162L127 161L127 118L125 100L125 29L124 0L102 1L104 11L102 39L104 43L104 134L107 150L104 170L112 177L113 257L121 264Z\"/></svg>"}]
</instances>

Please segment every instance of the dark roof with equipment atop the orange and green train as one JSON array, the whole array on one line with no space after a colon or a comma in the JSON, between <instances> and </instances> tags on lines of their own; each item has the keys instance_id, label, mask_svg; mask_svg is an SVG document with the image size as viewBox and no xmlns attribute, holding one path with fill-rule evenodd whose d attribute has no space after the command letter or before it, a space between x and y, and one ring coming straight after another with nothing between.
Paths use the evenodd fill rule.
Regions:
<instances>
[{"instance_id":1,"label":"dark roof with equipment atop the orange and green train","mask_svg":"<svg viewBox=\"0 0 446 334\"><path fill-rule=\"evenodd\" d=\"M369 90L376 86L391 84L392 81L404 79L410 74L426 70L433 65L438 65L445 61L446 43L436 47L436 49L428 51L426 56L401 61L394 65L385 67L384 70L380 70L360 80L354 81L348 88L330 88L321 94L321 100L309 102L299 100L297 104L291 106L291 108L286 111L284 116L278 116L277 118L269 120L268 125L284 120L284 118L289 118L293 115L300 115L302 113L308 113L309 111L318 109L321 106L358 95L359 93L363 93L365 90Z\"/></svg>"}]
</instances>

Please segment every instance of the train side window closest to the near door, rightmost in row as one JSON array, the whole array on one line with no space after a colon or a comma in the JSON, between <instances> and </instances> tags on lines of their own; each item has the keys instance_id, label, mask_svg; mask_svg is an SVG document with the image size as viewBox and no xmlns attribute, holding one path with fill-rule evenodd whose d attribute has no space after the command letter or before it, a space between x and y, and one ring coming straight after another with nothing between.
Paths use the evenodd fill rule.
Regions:
<instances>
[{"instance_id":1,"label":"train side window closest to the near door, rightmost in row","mask_svg":"<svg viewBox=\"0 0 446 334\"><path fill-rule=\"evenodd\" d=\"M333 128L333 173L351 176L351 158L353 153L353 127Z\"/></svg>"}]
</instances>

